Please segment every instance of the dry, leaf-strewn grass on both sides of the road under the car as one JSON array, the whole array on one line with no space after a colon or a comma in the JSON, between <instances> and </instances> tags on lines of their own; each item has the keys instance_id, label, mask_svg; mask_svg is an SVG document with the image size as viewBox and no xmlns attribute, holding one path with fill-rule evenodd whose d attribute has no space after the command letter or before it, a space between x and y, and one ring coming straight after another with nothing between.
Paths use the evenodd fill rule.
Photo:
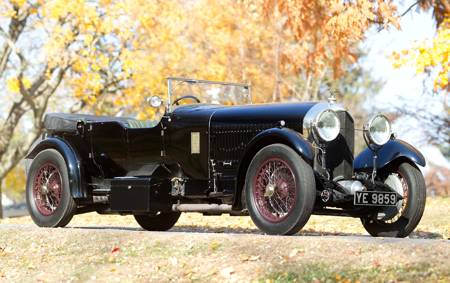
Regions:
<instances>
[{"instance_id":1,"label":"dry, leaf-strewn grass on both sides of the road under the car","mask_svg":"<svg viewBox=\"0 0 450 283\"><path fill-rule=\"evenodd\" d=\"M450 199L428 199L412 238L448 238ZM2 223L30 224L29 217ZM69 226L138 227L132 216L75 216ZM183 214L175 229L219 233L4 229L0 281L36 282L449 282L446 240L373 243L272 237L249 217ZM419 233L429 232L425 236ZM365 234L359 219L312 216L301 234ZM111 253L114 249L116 252Z\"/></svg>"}]
</instances>

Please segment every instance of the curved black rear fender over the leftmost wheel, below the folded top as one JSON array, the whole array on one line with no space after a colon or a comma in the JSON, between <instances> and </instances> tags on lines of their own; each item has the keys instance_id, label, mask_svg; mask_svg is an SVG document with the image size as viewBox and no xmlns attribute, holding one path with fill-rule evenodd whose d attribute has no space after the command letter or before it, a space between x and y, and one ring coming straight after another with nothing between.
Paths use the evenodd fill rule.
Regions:
<instances>
[{"instance_id":1,"label":"curved black rear fender over the leftmost wheel, below the folded top","mask_svg":"<svg viewBox=\"0 0 450 283\"><path fill-rule=\"evenodd\" d=\"M25 158L34 158L38 153L49 148L58 150L66 162L70 194L72 197L87 198L87 183L83 169L83 161L80 153L67 140L58 137L43 139Z\"/></svg>"}]
</instances>

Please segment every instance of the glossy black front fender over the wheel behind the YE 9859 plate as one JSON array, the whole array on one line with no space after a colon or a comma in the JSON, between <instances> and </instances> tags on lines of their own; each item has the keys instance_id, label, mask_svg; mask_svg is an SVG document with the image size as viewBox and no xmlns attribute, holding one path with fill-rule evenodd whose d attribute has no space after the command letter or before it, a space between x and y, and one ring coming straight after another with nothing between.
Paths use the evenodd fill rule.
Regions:
<instances>
[{"instance_id":1,"label":"glossy black front fender over the wheel behind the YE 9859 plate","mask_svg":"<svg viewBox=\"0 0 450 283\"><path fill-rule=\"evenodd\" d=\"M422 153L414 148L414 146L404 142L400 139L390 139L378 151L377 170L394 162L399 158L408 159L420 166L425 166L425 158ZM356 173L366 172L372 173L374 171L374 152L369 148L361 151L354 161L354 171Z\"/></svg>"}]
</instances>

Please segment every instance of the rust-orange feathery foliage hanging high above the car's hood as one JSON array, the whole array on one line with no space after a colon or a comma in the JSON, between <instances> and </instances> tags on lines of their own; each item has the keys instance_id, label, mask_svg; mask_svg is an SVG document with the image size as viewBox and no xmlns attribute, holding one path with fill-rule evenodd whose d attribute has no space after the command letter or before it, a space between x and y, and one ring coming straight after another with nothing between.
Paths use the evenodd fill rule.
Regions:
<instances>
[{"instance_id":1,"label":"rust-orange feathery foliage hanging high above the car's hood","mask_svg":"<svg viewBox=\"0 0 450 283\"><path fill-rule=\"evenodd\" d=\"M356 62L356 43L374 25L400 28L397 9L389 0L261 0L266 15L279 11L284 27L297 42L284 53L284 60L309 73L320 75L326 64L334 77L342 74L342 60Z\"/></svg>"}]
</instances>

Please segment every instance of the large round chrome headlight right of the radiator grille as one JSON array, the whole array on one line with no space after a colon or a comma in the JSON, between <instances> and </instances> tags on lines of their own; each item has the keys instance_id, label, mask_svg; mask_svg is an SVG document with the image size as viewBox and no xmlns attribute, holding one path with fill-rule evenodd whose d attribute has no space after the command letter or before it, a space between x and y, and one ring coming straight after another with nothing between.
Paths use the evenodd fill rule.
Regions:
<instances>
[{"instance_id":1,"label":"large round chrome headlight right of the radiator grille","mask_svg":"<svg viewBox=\"0 0 450 283\"><path fill-rule=\"evenodd\" d=\"M391 137L391 122L384 115L373 115L367 121L365 134L372 144L386 144Z\"/></svg>"}]
</instances>

